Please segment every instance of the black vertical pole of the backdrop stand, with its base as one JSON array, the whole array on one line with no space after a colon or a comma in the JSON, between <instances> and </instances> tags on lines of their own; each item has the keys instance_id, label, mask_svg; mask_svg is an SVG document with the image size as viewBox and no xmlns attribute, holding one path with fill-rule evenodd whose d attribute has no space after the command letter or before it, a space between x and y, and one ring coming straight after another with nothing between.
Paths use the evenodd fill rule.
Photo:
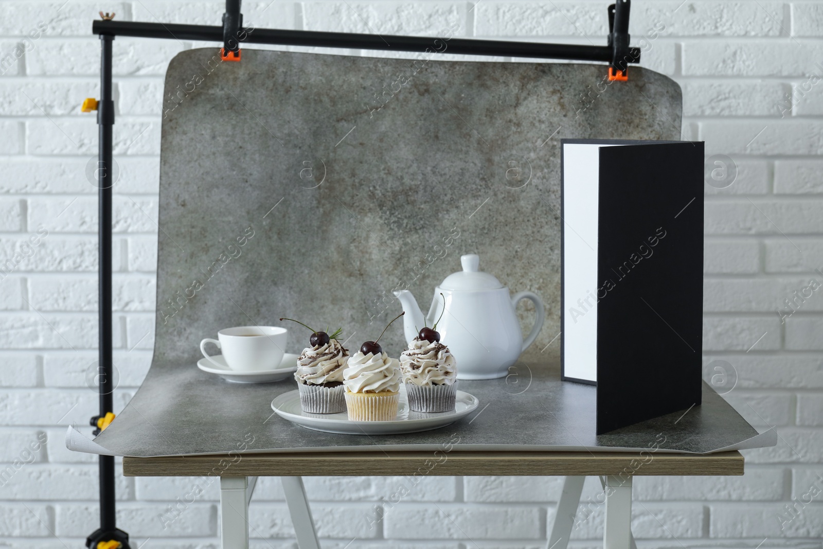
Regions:
<instances>
[{"instance_id":1,"label":"black vertical pole of the backdrop stand, with its base","mask_svg":"<svg viewBox=\"0 0 823 549\"><path fill-rule=\"evenodd\" d=\"M91 425L113 413L114 374L112 361L112 303L111 303L111 195L116 176L112 164L114 127L114 100L112 100L112 41L114 35L100 35L100 100L97 103L99 129L97 158L98 185L98 306L99 306L99 356L97 363L98 390L100 391L100 415L91 418ZM95 435L100 433L100 427ZM114 495L114 456L100 456L100 528L86 538L86 547L97 549L100 542L115 541L120 549L128 549L128 534L117 528Z\"/></svg>"}]
</instances>

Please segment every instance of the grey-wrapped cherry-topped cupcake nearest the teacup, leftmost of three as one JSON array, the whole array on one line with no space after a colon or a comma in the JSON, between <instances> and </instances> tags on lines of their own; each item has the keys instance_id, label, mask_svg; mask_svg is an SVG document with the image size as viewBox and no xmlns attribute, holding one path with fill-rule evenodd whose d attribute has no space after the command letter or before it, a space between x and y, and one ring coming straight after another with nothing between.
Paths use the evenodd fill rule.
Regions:
<instances>
[{"instance_id":1,"label":"grey-wrapped cherry-topped cupcake nearest the teacup, leftmost of three","mask_svg":"<svg viewBox=\"0 0 823 549\"><path fill-rule=\"evenodd\" d=\"M297 320L294 322L300 323ZM346 370L349 351L337 339L342 330L338 328L331 336L325 332L312 332L309 337L311 347L306 347L300 353L295 371L300 391L300 408L303 412L313 414L345 412L343 370Z\"/></svg>"}]
</instances>

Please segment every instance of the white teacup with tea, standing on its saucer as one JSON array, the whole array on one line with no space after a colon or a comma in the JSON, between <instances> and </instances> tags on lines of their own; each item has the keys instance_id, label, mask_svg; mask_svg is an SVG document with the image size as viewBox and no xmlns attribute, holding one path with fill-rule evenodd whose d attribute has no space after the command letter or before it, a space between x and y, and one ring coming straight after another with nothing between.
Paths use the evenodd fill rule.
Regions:
<instances>
[{"instance_id":1,"label":"white teacup with tea, standing on its saucer","mask_svg":"<svg viewBox=\"0 0 823 549\"><path fill-rule=\"evenodd\" d=\"M239 326L224 328L217 333L218 339L207 337L200 342L200 352L207 361L221 364L206 352L206 344L214 343L223 354L229 368L238 372L276 370L286 352L289 331L277 326Z\"/></svg>"}]
</instances>

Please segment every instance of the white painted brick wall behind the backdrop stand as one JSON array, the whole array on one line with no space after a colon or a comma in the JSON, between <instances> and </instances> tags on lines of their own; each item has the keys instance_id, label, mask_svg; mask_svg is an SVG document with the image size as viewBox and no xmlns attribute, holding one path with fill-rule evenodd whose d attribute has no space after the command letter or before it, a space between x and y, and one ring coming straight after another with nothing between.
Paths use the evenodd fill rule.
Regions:
<instances>
[{"instance_id":1,"label":"white painted brick wall behind the backdrop stand","mask_svg":"<svg viewBox=\"0 0 823 549\"><path fill-rule=\"evenodd\" d=\"M465 36L601 44L607 3L246 0L244 14L255 26L409 35L456 18ZM97 127L80 104L97 95L90 30L100 9L219 25L223 2L0 0L0 263L11 266L0 280L0 470L12 467L0 486L2 547L81 547L96 527L95 458L68 452L63 432L96 409L86 382L97 342L96 189L86 170ZM777 311L791 312L784 300L811 279L823 284L823 0L635 0L631 32L644 66L681 84L684 137L737 165L731 186L706 186L704 361L732 365L728 401L780 434L776 448L746 452L745 477L639 478L639 547L819 548L823 496L797 502L823 488L823 289L784 323ZM115 411L151 361L162 75L174 54L202 45L114 42ZM400 504L384 503L402 482L307 478L323 547L352 537L352 549L545 547L560 491L556 478L427 478ZM160 514L196 484L203 495L164 528ZM584 500L597 490L589 479ZM119 476L118 496L135 547L217 547L212 479ZM787 505L797 516L781 529ZM574 547L599 547L602 508L588 514ZM250 523L252 547L294 549L277 479L260 480Z\"/></svg>"}]
</instances>

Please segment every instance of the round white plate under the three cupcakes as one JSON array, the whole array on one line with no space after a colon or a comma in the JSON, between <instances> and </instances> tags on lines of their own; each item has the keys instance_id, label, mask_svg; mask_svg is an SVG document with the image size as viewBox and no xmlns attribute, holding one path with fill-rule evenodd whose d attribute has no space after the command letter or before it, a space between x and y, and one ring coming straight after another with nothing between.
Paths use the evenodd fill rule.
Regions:
<instances>
[{"instance_id":1,"label":"round white plate under the three cupcakes","mask_svg":"<svg viewBox=\"0 0 823 549\"><path fill-rule=\"evenodd\" d=\"M409 410L405 388L400 389L398 418L395 421L349 421L346 412L310 414L300 408L300 393L290 391L272 400L272 410L278 416L312 430L343 435L399 435L421 430L438 429L472 413L480 401L469 393L457 392L451 412L423 413Z\"/></svg>"}]
</instances>

